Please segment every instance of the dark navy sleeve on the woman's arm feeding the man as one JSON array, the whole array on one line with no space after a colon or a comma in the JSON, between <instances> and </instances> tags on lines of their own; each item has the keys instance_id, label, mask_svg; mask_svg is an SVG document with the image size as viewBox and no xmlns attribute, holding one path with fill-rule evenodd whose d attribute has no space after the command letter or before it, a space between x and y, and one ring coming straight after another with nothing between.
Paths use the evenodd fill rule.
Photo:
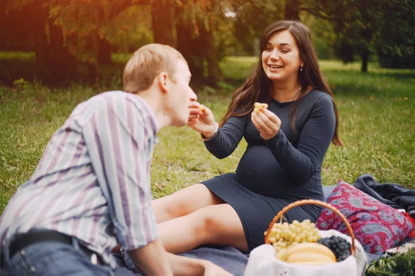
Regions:
<instances>
[{"instance_id":1,"label":"dark navy sleeve on the woman's arm feeding the man","mask_svg":"<svg viewBox=\"0 0 415 276\"><path fill-rule=\"evenodd\" d=\"M205 146L216 158L228 157L237 148L243 137L246 116L231 117L219 128L213 139L205 141Z\"/></svg>"}]
</instances>

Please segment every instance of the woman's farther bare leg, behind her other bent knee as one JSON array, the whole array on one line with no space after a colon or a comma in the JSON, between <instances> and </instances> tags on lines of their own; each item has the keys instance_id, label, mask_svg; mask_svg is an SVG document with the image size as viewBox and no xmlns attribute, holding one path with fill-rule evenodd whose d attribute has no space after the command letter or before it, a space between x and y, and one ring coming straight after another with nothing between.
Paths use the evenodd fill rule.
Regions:
<instances>
[{"instance_id":1,"label":"woman's farther bare leg, behind her other bent knee","mask_svg":"<svg viewBox=\"0 0 415 276\"><path fill-rule=\"evenodd\" d=\"M224 201L216 197L205 185L194 184L172 195L154 199L152 207L156 221L160 224L176 217L183 217L205 206L223 203Z\"/></svg>"}]
</instances>

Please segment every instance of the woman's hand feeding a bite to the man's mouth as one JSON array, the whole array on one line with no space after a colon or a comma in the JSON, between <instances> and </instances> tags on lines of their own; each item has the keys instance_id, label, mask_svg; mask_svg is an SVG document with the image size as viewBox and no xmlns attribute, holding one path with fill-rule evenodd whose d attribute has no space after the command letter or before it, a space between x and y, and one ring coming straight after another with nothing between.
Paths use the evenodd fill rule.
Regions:
<instances>
[{"instance_id":1,"label":"woman's hand feeding a bite to the man's mouth","mask_svg":"<svg viewBox=\"0 0 415 276\"><path fill-rule=\"evenodd\" d=\"M200 132L205 137L210 137L216 132L218 124L214 120L212 110L206 106L201 106L203 107L203 110L199 110L199 106L201 106L201 104L196 101L190 105L190 115L187 126Z\"/></svg>"}]
</instances>

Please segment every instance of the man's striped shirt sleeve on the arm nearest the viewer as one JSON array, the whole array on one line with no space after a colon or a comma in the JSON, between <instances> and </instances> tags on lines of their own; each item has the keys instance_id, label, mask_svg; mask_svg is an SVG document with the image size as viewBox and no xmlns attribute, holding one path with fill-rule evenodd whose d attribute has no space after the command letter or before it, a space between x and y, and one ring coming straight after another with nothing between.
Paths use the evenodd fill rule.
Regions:
<instances>
[{"instance_id":1,"label":"man's striped shirt sleeve on the arm nearest the viewer","mask_svg":"<svg viewBox=\"0 0 415 276\"><path fill-rule=\"evenodd\" d=\"M149 179L155 137L149 125L148 117L130 99L108 97L84 126L92 166L125 250L158 237Z\"/></svg>"}]
</instances>

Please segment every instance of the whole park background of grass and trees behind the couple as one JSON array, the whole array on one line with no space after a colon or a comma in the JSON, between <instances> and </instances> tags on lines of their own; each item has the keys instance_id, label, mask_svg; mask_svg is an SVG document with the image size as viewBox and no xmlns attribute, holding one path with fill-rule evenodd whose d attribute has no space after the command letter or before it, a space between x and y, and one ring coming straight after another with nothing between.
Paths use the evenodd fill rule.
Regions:
<instances>
[{"instance_id":1,"label":"whole park background of grass and trees behind the couple","mask_svg":"<svg viewBox=\"0 0 415 276\"><path fill-rule=\"evenodd\" d=\"M280 19L311 28L338 103L344 147L330 146L323 184L369 173L414 189L414 0L1 0L0 213L77 103L122 89L134 50L156 42L181 51L219 121L257 63L261 32ZM158 136L156 198L234 171L246 148L243 140L218 160L190 128Z\"/></svg>"}]
</instances>

